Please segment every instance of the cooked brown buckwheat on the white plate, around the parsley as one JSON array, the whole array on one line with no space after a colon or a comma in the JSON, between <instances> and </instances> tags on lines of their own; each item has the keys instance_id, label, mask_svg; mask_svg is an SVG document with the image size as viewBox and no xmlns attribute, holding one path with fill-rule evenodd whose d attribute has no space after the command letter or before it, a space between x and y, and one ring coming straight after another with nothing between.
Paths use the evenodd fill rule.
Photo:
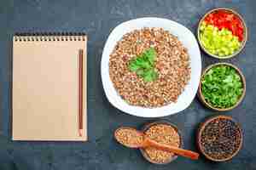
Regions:
<instances>
[{"instance_id":1,"label":"cooked brown buckwheat on the white plate, around the parsley","mask_svg":"<svg viewBox=\"0 0 256 170\"><path fill-rule=\"evenodd\" d=\"M128 68L131 59L154 47L158 79L144 82ZM160 107L176 102L190 79L189 54L183 44L162 28L131 31L116 44L109 59L114 88L130 105Z\"/></svg>"}]
</instances>

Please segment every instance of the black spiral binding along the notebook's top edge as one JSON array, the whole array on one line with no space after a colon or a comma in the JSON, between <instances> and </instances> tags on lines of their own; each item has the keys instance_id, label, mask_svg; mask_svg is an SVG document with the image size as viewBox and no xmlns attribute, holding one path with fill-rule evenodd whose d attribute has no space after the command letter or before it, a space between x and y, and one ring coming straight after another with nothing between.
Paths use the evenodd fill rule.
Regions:
<instances>
[{"instance_id":1,"label":"black spiral binding along the notebook's top edge","mask_svg":"<svg viewBox=\"0 0 256 170\"><path fill-rule=\"evenodd\" d=\"M15 33L15 42L85 41L84 32L22 32Z\"/></svg>"}]
</instances>

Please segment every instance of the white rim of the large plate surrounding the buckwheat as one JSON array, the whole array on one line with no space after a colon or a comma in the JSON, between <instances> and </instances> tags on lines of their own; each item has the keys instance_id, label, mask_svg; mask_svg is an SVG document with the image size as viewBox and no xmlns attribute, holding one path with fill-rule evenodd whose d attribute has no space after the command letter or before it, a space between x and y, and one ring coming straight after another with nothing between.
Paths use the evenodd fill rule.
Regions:
<instances>
[{"instance_id":1,"label":"white rim of the large plate surrounding the buckwheat","mask_svg":"<svg viewBox=\"0 0 256 170\"><path fill-rule=\"evenodd\" d=\"M141 21L143 24L140 25L136 25L136 22ZM154 26L154 22L159 23L160 26ZM149 24L149 26L147 26ZM151 24L153 26L151 26ZM131 25L131 26L130 26ZM145 26L144 26L145 25ZM163 26L161 26L163 25ZM171 25L171 26L170 26ZM192 57L190 58L190 60L193 60L194 63L194 67L195 67L195 63L197 63L197 66L194 68L194 74L193 74L193 79L191 78L189 81L189 84L187 85L187 87L185 88L185 90L183 91L183 93L181 95L186 95L186 97L188 98L188 94L189 96L191 96L191 98L187 99L186 101L183 102L177 102L179 105L175 106L175 107L171 107L170 105L176 105L177 103L171 103L169 105L165 105L162 107L156 107L156 108L140 108L139 106L135 106L135 105L126 105L124 102L120 101L120 97L119 99L116 98L117 95L113 93L113 83L112 81L109 80L109 73L107 73L108 69L106 67L108 61L109 61L109 48L113 48L110 43L112 42L118 42L118 38L113 36L113 33L115 31L120 31L120 28L123 28L125 26L125 30L124 32L126 32L127 30L135 30L135 29L141 29L143 27L162 27L165 30L177 30L177 28L179 29L183 29L183 31L189 35L189 41L188 39L186 40L186 37L182 37L183 41L186 41L186 43L190 43L193 42L193 46L191 46L191 53L192 54L196 54L193 55L193 57L195 59L192 59ZM127 32L128 32L127 31ZM178 32L178 30L177 30ZM172 32L172 34L174 34L175 36L179 37L181 35L181 33L177 33L177 32ZM125 33L121 33L122 35L124 35ZM119 37L119 36L118 36ZM194 43L195 42L195 43ZM190 47L186 47L186 48L190 48ZM115 26L113 28L113 30L110 32L110 34L108 35L108 39L105 42L103 51L102 51L102 60L101 60L101 77L102 77L102 85L103 85L103 89L104 89L104 94L106 95L108 101L117 109L119 109L120 111L123 111L127 114L130 114L132 116L139 116L139 117L161 117L161 116L170 116L173 114L177 114L178 112L181 112L183 110L185 110L193 101L193 99L195 98L196 95L196 91L200 82L200 75L201 75L201 51L198 45L198 42L196 40L195 35L193 34L192 31L190 31L187 27L177 23L176 21L173 20L169 20L166 18L158 18L158 17L143 17L143 18L137 18L137 19L133 19L133 20L127 20L125 22L120 23L118 26ZM105 68L106 67L106 68ZM191 74L192 75L192 74ZM192 81L194 80L194 81ZM186 93L184 93L186 92ZM123 100L123 99L122 99ZM138 109L137 109L138 108ZM170 111L171 109L171 111ZM149 114L148 114L149 111ZM140 112L140 113L139 113Z\"/></svg>"}]
</instances>

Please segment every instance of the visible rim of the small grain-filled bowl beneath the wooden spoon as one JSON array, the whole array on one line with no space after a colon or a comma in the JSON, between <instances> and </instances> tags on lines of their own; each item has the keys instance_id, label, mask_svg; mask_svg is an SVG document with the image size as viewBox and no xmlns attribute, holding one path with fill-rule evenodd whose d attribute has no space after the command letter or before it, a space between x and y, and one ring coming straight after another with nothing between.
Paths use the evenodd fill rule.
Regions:
<instances>
[{"instance_id":1,"label":"visible rim of the small grain-filled bowl beneath the wooden spoon","mask_svg":"<svg viewBox=\"0 0 256 170\"><path fill-rule=\"evenodd\" d=\"M175 125L173 125L171 122L168 122L168 121L158 121L158 122L150 122L150 123L147 123L143 126L142 128L142 131L143 133L145 133L149 127L153 127L153 126L156 126L156 125L159 125L159 124L166 124L166 125L169 125L169 126L172 126L173 128L175 128L175 130L177 131L178 135L179 135L179 139L180 139L180 145L179 147L182 148L183 147L183 139L182 139L182 136L181 136L181 133L178 131L177 127ZM177 159L177 155L174 155L172 156L168 161L166 162L163 162L163 163L160 163L158 161L154 161L152 159L150 159L150 157L148 156L147 152L143 149L140 149L140 151L142 152L143 154L143 157L151 162L151 163L154 163L154 164L159 164L159 165L165 165L165 164L168 164L170 163L171 161L174 161Z\"/></svg>"}]
</instances>

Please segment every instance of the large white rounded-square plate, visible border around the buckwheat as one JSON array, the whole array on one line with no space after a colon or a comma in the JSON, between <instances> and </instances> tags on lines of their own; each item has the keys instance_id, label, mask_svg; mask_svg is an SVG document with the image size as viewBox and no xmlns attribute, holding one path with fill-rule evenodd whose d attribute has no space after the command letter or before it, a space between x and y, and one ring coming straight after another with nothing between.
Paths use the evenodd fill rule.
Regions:
<instances>
[{"instance_id":1,"label":"large white rounded-square plate, visible border around the buckwheat","mask_svg":"<svg viewBox=\"0 0 256 170\"><path fill-rule=\"evenodd\" d=\"M109 55L112 53L116 43L125 35L125 33L136 29L142 29L143 27L161 27L166 31L170 31L170 33L178 37L178 39L183 43L184 47L188 48L190 56L191 78L183 93L179 95L177 103L172 103L170 105L152 109L128 105L125 100L119 96L118 92L113 87L113 82L109 77ZM200 77L201 54L195 36L191 31L189 31L189 29L172 20L160 18L140 18L126 21L113 29L103 49L102 83L105 94L113 106L121 111L124 111L125 113L129 113L134 116L160 117L183 111L195 98Z\"/></svg>"}]
</instances>

